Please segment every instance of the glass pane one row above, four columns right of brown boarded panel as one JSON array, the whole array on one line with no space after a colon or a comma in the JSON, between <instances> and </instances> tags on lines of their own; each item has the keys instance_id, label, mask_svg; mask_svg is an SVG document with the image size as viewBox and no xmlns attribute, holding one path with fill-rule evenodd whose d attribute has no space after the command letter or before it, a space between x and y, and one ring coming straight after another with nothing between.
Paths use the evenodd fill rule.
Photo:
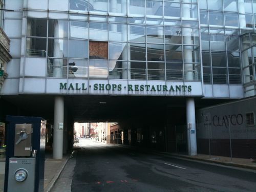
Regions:
<instances>
[{"instance_id":1,"label":"glass pane one row above, four columns right of brown boarded panel","mask_svg":"<svg viewBox=\"0 0 256 192\"><path fill-rule=\"evenodd\" d=\"M164 37L166 44L181 44L181 28L164 27Z\"/></svg>"}]
</instances>

